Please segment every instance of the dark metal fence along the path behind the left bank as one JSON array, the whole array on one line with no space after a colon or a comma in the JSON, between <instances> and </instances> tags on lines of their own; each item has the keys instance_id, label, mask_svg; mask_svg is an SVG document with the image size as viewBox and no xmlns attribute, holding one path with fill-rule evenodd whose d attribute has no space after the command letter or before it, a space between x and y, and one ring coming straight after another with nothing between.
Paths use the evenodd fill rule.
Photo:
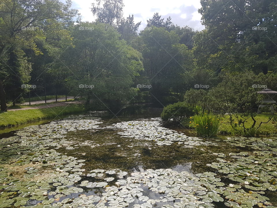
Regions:
<instances>
[{"instance_id":1,"label":"dark metal fence along the path behind the left bank","mask_svg":"<svg viewBox=\"0 0 277 208\"><path fill-rule=\"evenodd\" d=\"M57 89L46 86L36 86L35 88L30 88L27 94L23 95L23 103L21 105L34 105L40 103L52 103L59 101L68 101L75 98L80 98L80 96L74 96L67 93L66 89ZM7 97L7 105L12 105L13 101Z\"/></svg>"}]
</instances>

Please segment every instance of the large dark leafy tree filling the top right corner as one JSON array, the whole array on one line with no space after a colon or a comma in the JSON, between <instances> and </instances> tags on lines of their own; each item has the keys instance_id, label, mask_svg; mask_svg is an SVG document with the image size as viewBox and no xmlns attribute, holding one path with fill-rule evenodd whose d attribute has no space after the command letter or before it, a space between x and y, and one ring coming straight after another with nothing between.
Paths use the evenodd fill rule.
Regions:
<instances>
[{"instance_id":1,"label":"large dark leafy tree filling the top right corner","mask_svg":"<svg viewBox=\"0 0 277 208\"><path fill-rule=\"evenodd\" d=\"M201 5L207 30L197 37L197 58L220 71L276 71L275 0L201 0Z\"/></svg>"}]
</instances>

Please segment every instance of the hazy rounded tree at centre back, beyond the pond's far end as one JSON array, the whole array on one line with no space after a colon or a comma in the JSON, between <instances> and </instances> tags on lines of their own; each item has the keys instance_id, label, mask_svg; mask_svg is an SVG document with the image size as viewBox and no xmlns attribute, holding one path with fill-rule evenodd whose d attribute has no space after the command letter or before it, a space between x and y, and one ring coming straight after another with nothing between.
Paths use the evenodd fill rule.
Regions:
<instances>
[{"instance_id":1,"label":"hazy rounded tree at centre back, beyond the pond's far end","mask_svg":"<svg viewBox=\"0 0 277 208\"><path fill-rule=\"evenodd\" d=\"M134 47L143 54L145 72L152 88L151 93L160 96L171 91L178 93L184 84L184 72L191 70L192 59L188 48L179 44L179 36L174 31L152 26L141 32Z\"/></svg>"}]
</instances>

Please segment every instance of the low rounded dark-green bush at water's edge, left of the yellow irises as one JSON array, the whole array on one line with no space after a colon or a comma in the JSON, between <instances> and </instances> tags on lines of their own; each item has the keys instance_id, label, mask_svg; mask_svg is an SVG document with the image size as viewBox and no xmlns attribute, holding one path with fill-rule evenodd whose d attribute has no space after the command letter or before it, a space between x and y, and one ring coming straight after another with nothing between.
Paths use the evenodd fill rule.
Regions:
<instances>
[{"instance_id":1,"label":"low rounded dark-green bush at water's edge, left of the yellow irises","mask_svg":"<svg viewBox=\"0 0 277 208\"><path fill-rule=\"evenodd\" d=\"M191 115L193 115L192 107L185 102L178 102L164 107L161 118L164 121L179 124Z\"/></svg>"}]
</instances>

